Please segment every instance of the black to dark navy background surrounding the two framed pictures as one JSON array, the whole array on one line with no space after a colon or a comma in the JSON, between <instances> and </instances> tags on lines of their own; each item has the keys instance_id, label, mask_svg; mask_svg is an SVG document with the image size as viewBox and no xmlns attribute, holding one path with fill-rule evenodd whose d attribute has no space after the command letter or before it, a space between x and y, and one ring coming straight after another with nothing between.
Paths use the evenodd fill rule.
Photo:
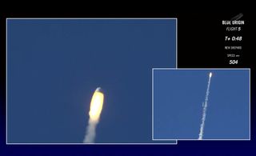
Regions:
<instances>
[{"instance_id":1,"label":"black to dark navy background surrounding the two framed pictures","mask_svg":"<svg viewBox=\"0 0 256 156\"><path fill-rule=\"evenodd\" d=\"M243 14L242 57L229 65L225 26ZM256 155L254 10L2 10L0 155ZM250 141L179 141L178 145L6 145L6 18L178 18L178 68L250 68Z\"/></svg>"}]
</instances>

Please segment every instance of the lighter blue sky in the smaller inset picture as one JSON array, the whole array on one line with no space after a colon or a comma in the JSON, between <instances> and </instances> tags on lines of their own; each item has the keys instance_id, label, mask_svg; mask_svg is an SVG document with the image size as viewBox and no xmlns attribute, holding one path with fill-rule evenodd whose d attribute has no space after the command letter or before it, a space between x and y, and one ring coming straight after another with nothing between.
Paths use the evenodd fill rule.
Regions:
<instances>
[{"instance_id":1,"label":"lighter blue sky in the smaller inset picture","mask_svg":"<svg viewBox=\"0 0 256 156\"><path fill-rule=\"evenodd\" d=\"M250 138L250 70L154 70L155 139L198 139L210 72L203 138Z\"/></svg>"}]
</instances>

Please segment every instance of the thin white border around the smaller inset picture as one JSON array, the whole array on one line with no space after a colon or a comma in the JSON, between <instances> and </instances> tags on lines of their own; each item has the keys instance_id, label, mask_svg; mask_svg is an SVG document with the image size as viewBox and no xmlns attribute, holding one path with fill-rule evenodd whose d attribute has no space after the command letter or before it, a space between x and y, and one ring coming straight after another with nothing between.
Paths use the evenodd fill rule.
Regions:
<instances>
[{"instance_id":1,"label":"thin white border around the smaller inset picture","mask_svg":"<svg viewBox=\"0 0 256 156\"><path fill-rule=\"evenodd\" d=\"M193 139L193 138L189 138L189 139L178 139L178 138L174 138L174 139L170 139L170 138L154 138L154 70L249 70L249 92L250 92L250 68L152 68L152 140L154 141L168 141L168 140L174 140L176 139L177 142L179 140L183 140L183 141L250 141L250 104L249 104L249 138L244 138L244 139L202 139L202 140L198 140L198 139ZM250 93L249 93L249 101L250 101Z\"/></svg>"}]
</instances>

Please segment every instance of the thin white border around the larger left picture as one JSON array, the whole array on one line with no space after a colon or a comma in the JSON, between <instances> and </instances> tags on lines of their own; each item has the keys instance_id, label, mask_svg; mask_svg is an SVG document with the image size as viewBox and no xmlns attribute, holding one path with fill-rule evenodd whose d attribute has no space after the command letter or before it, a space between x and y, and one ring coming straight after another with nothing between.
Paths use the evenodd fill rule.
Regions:
<instances>
[{"instance_id":1,"label":"thin white border around the larger left picture","mask_svg":"<svg viewBox=\"0 0 256 156\"><path fill-rule=\"evenodd\" d=\"M8 118L8 111L7 111L7 100L8 100L8 20L86 20L86 19L90 19L90 20L175 20L175 49L176 49L176 68L178 66L178 18L6 18L6 145L177 145L178 144L178 140L175 139L171 139L171 140L166 140L166 141L175 141L175 143L162 143L162 142L156 142L156 143L10 143L8 142L7 139L7 118ZM154 141L154 140L152 140Z\"/></svg>"}]
</instances>

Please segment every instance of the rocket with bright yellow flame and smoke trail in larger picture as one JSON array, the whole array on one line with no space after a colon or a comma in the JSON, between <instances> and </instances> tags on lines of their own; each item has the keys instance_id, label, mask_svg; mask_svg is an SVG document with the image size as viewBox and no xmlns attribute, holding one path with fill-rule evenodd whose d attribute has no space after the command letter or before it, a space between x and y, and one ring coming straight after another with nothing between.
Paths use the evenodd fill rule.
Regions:
<instances>
[{"instance_id":1,"label":"rocket with bright yellow flame and smoke trail in larger picture","mask_svg":"<svg viewBox=\"0 0 256 156\"><path fill-rule=\"evenodd\" d=\"M86 130L86 136L83 140L84 143L94 143L94 139L96 136L96 126L98 125L99 118L102 112L103 102L104 94L102 93L102 89L98 87L94 91L93 98L91 98L89 112L90 119Z\"/></svg>"}]
</instances>

